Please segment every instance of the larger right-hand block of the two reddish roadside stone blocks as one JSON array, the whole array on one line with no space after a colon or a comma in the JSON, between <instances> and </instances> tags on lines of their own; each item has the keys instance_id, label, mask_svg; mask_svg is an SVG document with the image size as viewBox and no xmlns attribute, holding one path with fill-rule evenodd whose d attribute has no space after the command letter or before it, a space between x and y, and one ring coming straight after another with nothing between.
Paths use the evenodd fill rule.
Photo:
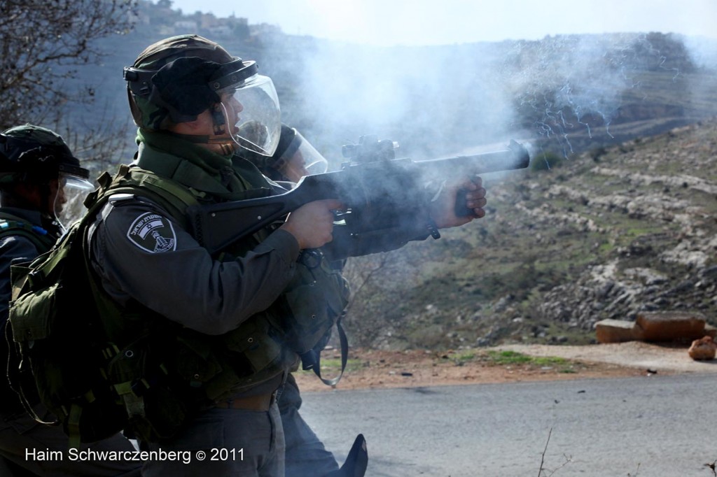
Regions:
<instances>
[{"instance_id":1,"label":"larger right-hand block of the two reddish roadside stone blocks","mask_svg":"<svg viewBox=\"0 0 717 477\"><path fill-rule=\"evenodd\" d=\"M642 339L649 342L688 341L714 331L706 330L706 319L697 312L640 312L635 324L642 328Z\"/></svg>"}]
</instances>

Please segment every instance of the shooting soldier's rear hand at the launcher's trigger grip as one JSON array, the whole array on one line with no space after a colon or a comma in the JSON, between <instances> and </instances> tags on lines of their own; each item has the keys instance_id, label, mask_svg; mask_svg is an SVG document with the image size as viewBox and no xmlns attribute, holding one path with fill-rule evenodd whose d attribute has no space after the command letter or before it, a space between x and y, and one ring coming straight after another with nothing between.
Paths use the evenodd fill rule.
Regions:
<instances>
[{"instance_id":1,"label":"shooting soldier's rear hand at the launcher's trigger grip","mask_svg":"<svg viewBox=\"0 0 717 477\"><path fill-rule=\"evenodd\" d=\"M290 213L280 228L296 238L300 249L318 249L333 240L333 211L341 208L333 199L309 202Z\"/></svg>"}]
</instances>

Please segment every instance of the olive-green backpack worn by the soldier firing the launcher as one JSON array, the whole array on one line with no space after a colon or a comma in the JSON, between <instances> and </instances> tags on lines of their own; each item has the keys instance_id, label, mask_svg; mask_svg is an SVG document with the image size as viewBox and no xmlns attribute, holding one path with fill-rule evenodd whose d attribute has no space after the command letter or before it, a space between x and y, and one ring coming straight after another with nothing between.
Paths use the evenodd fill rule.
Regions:
<instances>
[{"instance_id":1,"label":"olive-green backpack worn by the soldier firing the launcher","mask_svg":"<svg viewBox=\"0 0 717 477\"><path fill-rule=\"evenodd\" d=\"M103 375L108 350L83 243L87 225L105 202L93 204L45 254L11 266L9 325L21 359L11 387L44 422L28 399L34 390L22 389L21 383L34 382L56 418L51 424L62 425L75 448L115 435L126 423L124 405Z\"/></svg>"}]
</instances>

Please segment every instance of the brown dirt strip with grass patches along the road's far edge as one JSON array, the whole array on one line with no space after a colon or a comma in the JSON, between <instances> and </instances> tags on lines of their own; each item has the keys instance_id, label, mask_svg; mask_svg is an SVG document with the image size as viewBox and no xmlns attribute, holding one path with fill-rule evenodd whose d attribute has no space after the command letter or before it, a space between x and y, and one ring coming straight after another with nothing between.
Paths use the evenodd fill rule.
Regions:
<instances>
[{"instance_id":1,"label":"brown dirt strip with grass patches along the road's far edge","mask_svg":"<svg viewBox=\"0 0 717 477\"><path fill-rule=\"evenodd\" d=\"M684 372L717 372L717 360L695 361L688 346L644 342L550 346L512 344L473 350L377 351L349 350L349 363L336 389L423 387L487 382L571 380L602 377L636 377ZM523 363L505 363L496 356L516 352L533 357ZM555 358L562 358L557 360ZM338 374L338 350L325 350L323 377ZM313 372L297 372L303 391L326 391Z\"/></svg>"}]
</instances>

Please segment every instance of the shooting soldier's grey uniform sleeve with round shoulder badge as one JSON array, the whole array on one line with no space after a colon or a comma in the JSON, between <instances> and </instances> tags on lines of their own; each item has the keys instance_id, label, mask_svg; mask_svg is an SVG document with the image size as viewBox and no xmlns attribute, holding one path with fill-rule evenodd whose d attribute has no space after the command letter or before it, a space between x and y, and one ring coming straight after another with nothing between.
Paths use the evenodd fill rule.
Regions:
<instances>
[{"instance_id":1,"label":"shooting soldier's grey uniform sleeve with round shoulder badge","mask_svg":"<svg viewBox=\"0 0 717 477\"><path fill-rule=\"evenodd\" d=\"M90 227L90 257L120 304L135 299L205 334L267 309L293 277L298 242L277 230L246 256L220 262L148 203L108 203Z\"/></svg>"}]
</instances>

